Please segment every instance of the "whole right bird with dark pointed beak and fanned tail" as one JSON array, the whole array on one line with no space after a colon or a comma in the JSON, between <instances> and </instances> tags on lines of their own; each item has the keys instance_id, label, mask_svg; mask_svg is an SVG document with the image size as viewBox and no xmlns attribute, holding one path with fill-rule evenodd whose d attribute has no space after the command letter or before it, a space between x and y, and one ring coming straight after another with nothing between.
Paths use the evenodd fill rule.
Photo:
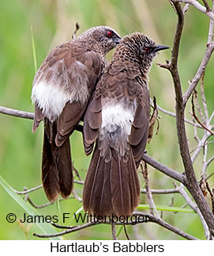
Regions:
<instances>
[{"instance_id":1,"label":"whole right bird with dark pointed beak and fanned tail","mask_svg":"<svg viewBox=\"0 0 214 256\"><path fill-rule=\"evenodd\" d=\"M148 71L166 49L147 36L124 37L84 115L84 150L92 160L84 181L84 211L130 216L140 202L137 167L149 124Z\"/></svg>"}]
</instances>

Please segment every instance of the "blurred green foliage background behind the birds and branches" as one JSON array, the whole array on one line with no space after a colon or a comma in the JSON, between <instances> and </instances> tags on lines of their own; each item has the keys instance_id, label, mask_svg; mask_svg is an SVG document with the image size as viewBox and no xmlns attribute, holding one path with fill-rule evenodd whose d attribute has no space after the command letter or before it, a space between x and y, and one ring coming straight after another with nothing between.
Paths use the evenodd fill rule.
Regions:
<instances>
[{"instance_id":1,"label":"blurred green foliage background behind the birds and branches","mask_svg":"<svg viewBox=\"0 0 214 256\"><path fill-rule=\"evenodd\" d=\"M211 1L209 1L211 2ZM177 16L167 0L10 0L0 2L0 105L13 109L33 112L31 102L32 80L35 74L32 57L31 26L33 29L38 66L47 53L58 44L69 40L75 29L75 23L81 25L80 33L96 25L109 25L121 36L131 32L144 32L158 44L172 45ZM208 17L192 6L186 13L186 22L182 35L179 56L179 71L182 88L186 90L188 80L193 78L205 53L208 35ZM111 59L111 51L107 59ZM170 59L171 51L161 52L155 63ZM213 57L205 74L205 94L209 113L214 109L213 95ZM175 112L175 94L171 75L168 71L153 65L150 72L150 94L156 96L157 103L163 108ZM190 109L190 105L188 105ZM190 119L189 111L186 118ZM183 171L181 157L178 154L178 139L175 119L160 113L160 130L148 144L148 154L179 172ZM0 114L0 174L14 189L32 188L41 184L41 151L43 125L32 134L32 120L9 117ZM193 139L193 127L186 124L190 149L196 146ZM89 158L84 155L81 134L74 132L72 138L74 166L84 178ZM209 155L214 147L209 145ZM200 177L202 153L195 162L197 178ZM208 173L214 164L209 166ZM159 171L148 167L149 183L152 189L174 188L172 180ZM142 175L139 172L142 181ZM213 188L213 177L210 186ZM144 182L142 181L142 187ZM81 185L75 184L76 193L81 196ZM43 189L30 194L35 204L47 202ZM171 204L171 195L154 195L156 204ZM141 203L146 204L145 195ZM174 195L174 206L181 207L185 202ZM35 224L18 222L8 224L6 214L14 212L18 218L23 209L13 201L0 187L0 239L36 239L32 233L39 230ZM61 212L76 212L81 203L70 199L60 203ZM57 204L39 209L44 216L60 215ZM203 228L197 214L163 212L163 220L181 228L183 231L205 239ZM68 222L66 223L68 224ZM74 223L73 223L74 224ZM117 227L118 228L118 227ZM181 239L156 224L144 224L127 227L132 239ZM111 227L99 225L66 235L65 239L111 239ZM126 239L124 232L119 239Z\"/></svg>"}]
</instances>

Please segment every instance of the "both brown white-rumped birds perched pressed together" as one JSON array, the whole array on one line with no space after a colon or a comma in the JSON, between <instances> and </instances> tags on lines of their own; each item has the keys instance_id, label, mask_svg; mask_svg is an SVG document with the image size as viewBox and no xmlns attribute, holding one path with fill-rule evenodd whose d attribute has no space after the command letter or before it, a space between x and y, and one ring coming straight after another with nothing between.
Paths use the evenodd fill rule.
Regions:
<instances>
[{"instance_id":1,"label":"both brown white-rumped birds perched pressed together","mask_svg":"<svg viewBox=\"0 0 214 256\"><path fill-rule=\"evenodd\" d=\"M111 63L104 56L116 48ZM84 120L86 155L84 211L130 216L140 202L137 167L145 152L149 125L148 71L167 46L142 33L121 39L98 26L47 55L34 78L33 132L43 120L43 188L49 201L69 197L73 173L69 136Z\"/></svg>"}]
</instances>

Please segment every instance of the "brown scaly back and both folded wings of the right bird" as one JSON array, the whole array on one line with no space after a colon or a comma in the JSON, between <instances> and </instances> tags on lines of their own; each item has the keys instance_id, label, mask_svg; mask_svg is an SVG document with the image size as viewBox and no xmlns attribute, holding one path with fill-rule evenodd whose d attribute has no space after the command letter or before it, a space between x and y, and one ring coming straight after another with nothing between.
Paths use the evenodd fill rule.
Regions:
<instances>
[{"instance_id":1,"label":"brown scaly back and both folded wings of the right bird","mask_svg":"<svg viewBox=\"0 0 214 256\"><path fill-rule=\"evenodd\" d=\"M102 124L102 98L117 101L137 100L137 110L133 120L130 145L136 163L145 151L149 123L149 93L145 82L141 81L139 70L127 63L111 63L96 86L92 101L84 115L84 151L92 152L93 143Z\"/></svg>"}]
</instances>

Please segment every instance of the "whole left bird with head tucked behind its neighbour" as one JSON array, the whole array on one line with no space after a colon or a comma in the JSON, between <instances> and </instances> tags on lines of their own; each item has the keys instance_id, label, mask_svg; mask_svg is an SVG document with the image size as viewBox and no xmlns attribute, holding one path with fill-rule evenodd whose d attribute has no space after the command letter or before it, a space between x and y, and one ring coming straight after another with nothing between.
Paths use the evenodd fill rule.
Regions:
<instances>
[{"instance_id":1,"label":"whole left bird with head tucked behind its neighbour","mask_svg":"<svg viewBox=\"0 0 214 256\"><path fill-rule=\"evenodd\" d=\"M42 179L49 201L73 189L69 136L81 120L88 100L102 74L104 55L115 48L120 36L98 26L47 55L33 81L35 132L44 120Z\"/></svg>"}]
</instances>

